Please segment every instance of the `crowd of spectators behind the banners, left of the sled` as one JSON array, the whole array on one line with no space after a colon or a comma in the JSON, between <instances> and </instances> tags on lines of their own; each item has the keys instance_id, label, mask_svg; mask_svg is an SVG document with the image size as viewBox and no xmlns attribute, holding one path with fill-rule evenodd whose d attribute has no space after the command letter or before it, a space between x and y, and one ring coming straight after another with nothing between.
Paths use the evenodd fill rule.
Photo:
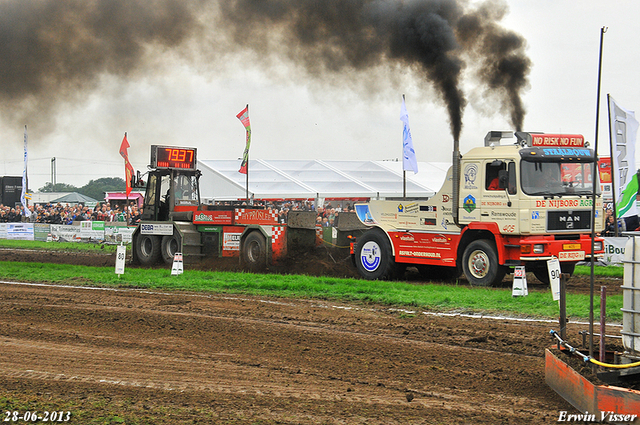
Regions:
<instances>
[{"instance_id":1,"label":"crowd of spectators behind the banners, left of the sled","mask_svg":"<svg viewBox=\"0 0 640 425\"><path fill-rule=\"evenodd\" d=\"M83 204L57 203L30 205L29 216L24 214L22 205L9 207L0 204L0 223L28 222L47 224L73 224L80 221L126 222L135 225L140 222L142 209L135 202L129 206L111 208L109 202L99 202L94 208Z\"/></svg>"}]
</instances>

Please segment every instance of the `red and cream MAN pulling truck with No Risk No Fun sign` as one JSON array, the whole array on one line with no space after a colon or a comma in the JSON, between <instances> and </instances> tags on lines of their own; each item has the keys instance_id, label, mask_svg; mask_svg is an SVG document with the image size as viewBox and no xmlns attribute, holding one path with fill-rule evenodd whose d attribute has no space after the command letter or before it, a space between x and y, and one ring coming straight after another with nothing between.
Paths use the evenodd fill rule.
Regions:
<instances>
[{"instance_id":1,"label":"red and cream MAN pulling truck with No Risk No Fun sign","mask_svg":"<svg viewBox=\"0 0 640 425\"><path fill-rule=\"evenodd\" d=\"M369 227L352 245L354 262L367 279L393 279L407 266L426 277L457 278L473 285L502 281L524 265L548 282L547 260L561 270L602 254L591 245L591 221L604 226L593 150L581 135L489 132L485 145L453 166L440 191L424 201L370 201L355 206Z\"/></svg>"}]
</instances>

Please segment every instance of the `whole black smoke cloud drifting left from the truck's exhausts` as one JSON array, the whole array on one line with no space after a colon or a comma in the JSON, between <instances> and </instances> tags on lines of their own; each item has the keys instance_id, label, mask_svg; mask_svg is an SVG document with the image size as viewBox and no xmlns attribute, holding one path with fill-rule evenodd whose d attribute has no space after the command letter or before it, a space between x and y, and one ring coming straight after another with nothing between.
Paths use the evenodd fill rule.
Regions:
<instances>
[{"instance_id":1,"label":"whole black smoke cloud drifting left from the truck's exhausts","mask_svg":"<svg viewBox=\"0 0 640 425\"><path fill-rule=\"evenodd\" d=\"M468 10L463 0L4 0L0 103L46 112L103 75L155 72L149 64L164 51L188 58L188 44L200 46L194 62L245 49L288 58L321 83L406 69L436 89L459 139L469 57L520 129L530 62L524 41L498 25L504 10L493 2ZM214 46L212 34L231 41Z\"/></svg>"}]
</instances>

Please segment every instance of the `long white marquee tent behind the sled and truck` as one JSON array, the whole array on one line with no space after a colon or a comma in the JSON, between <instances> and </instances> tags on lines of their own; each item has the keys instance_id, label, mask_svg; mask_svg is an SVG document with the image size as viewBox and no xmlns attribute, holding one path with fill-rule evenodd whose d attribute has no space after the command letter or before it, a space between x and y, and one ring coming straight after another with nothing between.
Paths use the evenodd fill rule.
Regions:
<instances>
[{"instance_id":1,"label":"long white marquee tent behind the sled and truck","mask_svg":"<svg viewBox=\"0 0 640 425\"><path fill-rule=\"evenodd\" d=\"M239 160L199 160L203 200L244 199L246 176ZM450 164L420 162L406 173L407 198L433 196ZM249 161L249 196L255 199L400 198L402 162L398 161Z\"/></svg>"}]
</instances>

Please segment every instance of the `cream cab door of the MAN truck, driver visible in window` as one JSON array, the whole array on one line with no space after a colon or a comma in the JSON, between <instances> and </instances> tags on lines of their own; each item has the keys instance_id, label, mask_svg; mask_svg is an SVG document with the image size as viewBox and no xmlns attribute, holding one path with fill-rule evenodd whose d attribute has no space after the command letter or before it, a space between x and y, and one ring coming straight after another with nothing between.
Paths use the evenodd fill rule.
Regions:
<instances>
[{"instance_id":1,"label":"cream cab door of the MAN truck, driver visible in window","mask_svg":"<svg viewBox=\"0 0 640 425\"><path fill-rule=\"evenodd\" d=\"M486 161L479 200L480 221L498 224L500 233L515 234L518 227L516 164L510 160Z\"/></svg>"}]
</instances>

